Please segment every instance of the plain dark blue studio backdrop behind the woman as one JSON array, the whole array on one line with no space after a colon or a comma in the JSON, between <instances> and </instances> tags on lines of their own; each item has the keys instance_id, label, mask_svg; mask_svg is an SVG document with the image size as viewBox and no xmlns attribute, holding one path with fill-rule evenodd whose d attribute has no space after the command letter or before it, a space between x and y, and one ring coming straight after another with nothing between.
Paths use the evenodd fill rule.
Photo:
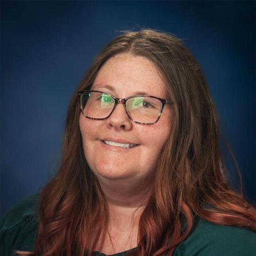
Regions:
<instances>
[{"instance_id":1,"label":"plain dark blue studio backdrop behind the woman","mask_svg":"<svg viewBox=\"0 0 256 256\"><path fill-rule=\"evenodd\" d=\"M202 66L255 201L255 1L1 1L1 215L57 171L68 102L95 55L140 27L183 39Z\"/></svg>"}]
</instances>

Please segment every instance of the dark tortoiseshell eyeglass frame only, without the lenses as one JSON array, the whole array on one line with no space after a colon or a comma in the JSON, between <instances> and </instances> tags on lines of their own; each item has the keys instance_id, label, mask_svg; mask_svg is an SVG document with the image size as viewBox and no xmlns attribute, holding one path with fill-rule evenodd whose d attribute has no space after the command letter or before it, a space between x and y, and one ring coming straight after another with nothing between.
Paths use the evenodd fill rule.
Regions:
<instances>
[{"instance_id":1,"label":"dark tortoiseshell eyeglass frame only, without the lenses","mask_svg":"<svg viewBox=\"0 0 256 256\"><path fill-rule=\"evenodd\" d=\"M110 112L110 114L109 114L107 117L105 117L105 118L92 118L92 117L89 117L89 116L87 116L87 115L84 114L84 112L83 112L83 107L82 107L82 97L81 97L81 96L82 96L83 93L89 93L89 92L96 92L96 93L106 94L106 95L112 97L112 98L115 100L115 105L114 105L112 111ZM165 100L165 99L162 99L162 98L158 98L158 97L155 97L155 96L149 96L149 95L134 95L134 96L130 96L130 97L127 97L127 98L124 98L124 99L119 99L119 98L117 98L117 97L115 97L115 96L113 96L113 95L111 95L111 94L108 94L108 93L105 93L105 92L101 92L101 91L95 91L95 90L83 90L83 91L79 91L79 92L77 93L77 95L78 95L78 98L80 99L80 108L81 108L82 115L85 116L85 117L88 118L88 119L93 119L93 120L105 120L105 119L107 119L107 118L114 112L116 105L117 105L118 103L121 103L121 104L123 104L123 106L124 106L124 108L125 108L125 111L126 111L126 114L128 115L129 119L132 120L132 121L134 121L134 120L130 117L130 115L128 114L128 111L127 111L127 108L126 108L126 101L127 101L128 99L131 99L131 98L134 98L134 97L150 97L150 98L155 98L155 99L158 99L159 101L161 101L161 109L160 109L160 112L159 112L159 115L158 115L157 119L155 120L155 122L151 122L151 123L143 123L143 122L138 122L138 121L134 121L134 122L135 122L135 123L139 123L139 124L154 124L154 123L156 123L156 122L159 120L160 116L162 115L162 111L163 111L164 105L165 105L165 104L174 104L173 101L168 101L168 100Z\"/></svg>"}]
</instances>

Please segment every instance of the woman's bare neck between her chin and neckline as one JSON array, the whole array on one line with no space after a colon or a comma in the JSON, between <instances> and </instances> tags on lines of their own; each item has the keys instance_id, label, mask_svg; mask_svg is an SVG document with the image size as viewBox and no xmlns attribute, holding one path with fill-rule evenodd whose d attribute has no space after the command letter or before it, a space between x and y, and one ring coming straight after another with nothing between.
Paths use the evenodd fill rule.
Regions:
<instances>
[{"instance_id":1,"label":"woman's bare neck between her chin and neckline","mask_svg":"<svg viewBox=\"0 0 256 256\"><path fill-rule=\"evenodd\" d=\"M150 180L150 179L148 179ZM137 246L140 216L148 202L152 186L145 180L98 177L108 204L107 230L98 240L98 251L114 254Z\"/></svg>"}]
</instances>

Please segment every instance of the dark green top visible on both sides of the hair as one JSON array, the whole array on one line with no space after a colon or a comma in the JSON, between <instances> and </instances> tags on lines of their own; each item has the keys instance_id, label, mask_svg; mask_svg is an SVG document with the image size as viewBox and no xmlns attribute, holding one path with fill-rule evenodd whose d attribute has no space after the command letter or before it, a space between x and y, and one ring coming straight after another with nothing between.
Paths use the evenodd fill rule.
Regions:
<instances>
[{"instance_id":1,"label":"dark green top visible on both sides of the hair","mask_svg":"<svg viewBox=\"0 0 256 256\"><path fill-rule=\"evenodd\" d=\"M38 229L37 206L38 194L20 201L0 219L0 256L10 256L14 249L33 250ZM127 252L115 256L123 256ZM256 233L198 218L189 237L179 244L174 253L174 256L195 255L256 256ZM94 256L105 254L95 251Z\"/></svg>"}]
</instances>

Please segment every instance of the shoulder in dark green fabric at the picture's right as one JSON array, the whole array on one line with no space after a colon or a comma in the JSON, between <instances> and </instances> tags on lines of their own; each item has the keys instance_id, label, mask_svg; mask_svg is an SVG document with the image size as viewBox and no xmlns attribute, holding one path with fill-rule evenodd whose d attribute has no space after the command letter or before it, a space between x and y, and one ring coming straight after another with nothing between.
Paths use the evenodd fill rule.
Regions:
<instances>
[{"instance_id":1,"label":"shoulder in dark green fabric at the picture's right","mask_svg":"<svg viewBox=\"0 0 256 256\"><path fill-rule=\"evenodd\" d=\"M184 256L254 256L256 232L199 218L193 232L179 247Z\"/></svg>"}]
</instances>

